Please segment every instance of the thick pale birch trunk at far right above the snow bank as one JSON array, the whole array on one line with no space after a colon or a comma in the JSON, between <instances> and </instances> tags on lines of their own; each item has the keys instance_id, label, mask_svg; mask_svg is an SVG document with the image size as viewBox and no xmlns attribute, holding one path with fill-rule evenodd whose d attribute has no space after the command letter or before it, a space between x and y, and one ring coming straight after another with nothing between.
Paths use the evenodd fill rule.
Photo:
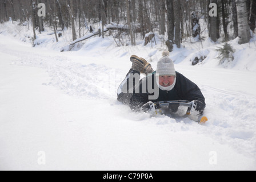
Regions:
<instances>
[{"instance_id":1,"label":"thick pale birch trunk at far right above the snow bank","mask_svg":"<svg viewBox=\"0 0 256 182\"><path fill-rule=\"evenodd\" d=\"M251 38L247 6L246 2L243 0L236 0L235 2L237 3L239 44L245 44L248 43Z\"/></svg>"}]
</instances>

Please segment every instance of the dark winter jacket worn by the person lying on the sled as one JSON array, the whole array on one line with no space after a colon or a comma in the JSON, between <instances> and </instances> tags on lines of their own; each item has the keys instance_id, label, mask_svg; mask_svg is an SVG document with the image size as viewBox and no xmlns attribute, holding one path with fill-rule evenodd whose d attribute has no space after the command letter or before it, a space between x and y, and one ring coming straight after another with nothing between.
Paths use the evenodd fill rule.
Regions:
<instances>
[{"instance_id":1,"label":"dark winter jacket worn by the person lying on the sled","mask_svg":"<svg viewBox=\"0 0 256 182\"><path fill-rule=\"evenodd\" d=\"M151 77L149 79L149 77ZM151 80L154 84L154 86L157 86L155 73L152 75L143 78L139 83L139 93L133 93L133 96L131 96L130 99L130 107L132 110L139 111L141 107L146 104L149 101L152 102L158 102L158 101L177 101L177 100L187 100L187 101L200 101L202 103L203 109L205 108L205 97L203 97L203 94L201 90L198 88L194 82L190 81L188 78L183 76L181 73L176 72L176 84L174 88L170 91L164 91L159 89L159 97L155 100L149 100L149 94L150 92L143 92L142 93L142 85L143 82L148 82ZM148 90L148 88L147 88Z\"/></svg>"}]
</instances>

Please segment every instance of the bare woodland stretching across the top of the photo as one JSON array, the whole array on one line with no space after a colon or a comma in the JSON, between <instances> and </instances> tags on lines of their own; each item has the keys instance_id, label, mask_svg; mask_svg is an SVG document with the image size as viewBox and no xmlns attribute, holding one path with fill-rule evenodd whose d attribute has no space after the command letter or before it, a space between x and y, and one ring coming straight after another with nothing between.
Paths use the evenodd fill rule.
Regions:
<instances>
[{"instance_id":1,"label":"bare woodland stretching across the top of the photo","mask_svg":"<svg viewBox=\"0 0 256 182\"><path fill-rule=\"evenodd\" d=\"M39 3L45 4L45 16L38 16ZM217 16L210 16L210 3L217 5ZM213 7L213 6L212 6ZM212 10L213 13L213 10ZM124 46L126 36L131 45L147 37L154 38L154 32L167 34L163 40L169 51L173 44L181 47L188 38L204 39L201 36L199 19L203 19L213 42L233 40L239 36L239 43L248 43L255 30L256 0L1 0L0 22L18 21L29 26L32 21L39 34L45 26L53 28L58 41L58 30L71 28L74 43L94 35L114 36L118 46ZM95 24L98 24L95 27ZM95 30L96 29L96 30ZM102 31L103 30L103 31ZM111 31L112 30L112 31ZM114 30L114 32L113 32ZM84 37L88 32L92 34ZM105 32L109 31L108 34ZM149 36L149 34L151 36ZM59 35L61 36L61 35ZM221 39L220 39L221 38ZM78 40L79 39L79 40ZM83 40L82 39L82 40Z\"/></svg>"}]
</instances>

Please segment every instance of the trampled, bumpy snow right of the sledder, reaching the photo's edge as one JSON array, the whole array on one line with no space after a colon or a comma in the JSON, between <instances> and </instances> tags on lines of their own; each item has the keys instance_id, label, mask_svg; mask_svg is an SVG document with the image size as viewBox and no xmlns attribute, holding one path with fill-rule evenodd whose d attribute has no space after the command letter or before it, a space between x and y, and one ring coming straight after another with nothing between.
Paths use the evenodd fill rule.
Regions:
<instances>
[{"instance_id":1,"label":"trampled, bumpy snow right of the sledder, reaching the photo's edge","mask_svg":"<svg viewBox=\"0 0 256 182\"><path fill-rule=\"evenodd\" d=\"M256 158L256 98L205 85L202 92L206 97L205 113L209 117L206 133Z\"/></svg>"}]
</instances>

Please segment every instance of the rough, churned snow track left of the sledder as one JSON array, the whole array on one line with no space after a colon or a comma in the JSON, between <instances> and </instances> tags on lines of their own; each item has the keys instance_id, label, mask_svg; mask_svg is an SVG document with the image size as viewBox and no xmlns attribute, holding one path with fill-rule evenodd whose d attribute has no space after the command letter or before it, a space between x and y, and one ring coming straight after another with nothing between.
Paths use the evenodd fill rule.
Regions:
<instances>
[{"instance_id":1,"label":"rough, churned snow track left of the sledder","mask_svg":"<svg viewBox=\"0 0 256 182\"><path fill-rule=\"evenodd\" d=\"M117 83L114 69L104 65L74 63L64 56L36 57L37 59L31 59L30 56L22 56L13 61L13 64L46 69L51 80L43 85L55 86L72 96L91 99L116 97Z\"/></svg>"}]
</instances>

